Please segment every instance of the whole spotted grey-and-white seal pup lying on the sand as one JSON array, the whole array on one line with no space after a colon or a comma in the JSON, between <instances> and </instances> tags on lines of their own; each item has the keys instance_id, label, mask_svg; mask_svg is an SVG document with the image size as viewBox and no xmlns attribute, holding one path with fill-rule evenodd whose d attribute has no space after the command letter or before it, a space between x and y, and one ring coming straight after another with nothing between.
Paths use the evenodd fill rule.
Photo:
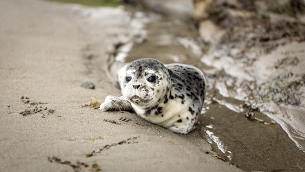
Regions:
<instances>
[{"instance_id":1,"label":"whole spotted grey-and-white seal pup lying on the sand","mask_svg":"<svg viewBox=\"0 0 305 172\"><path fill-rule=\"evenodd\" d=\"M134 110L143 119L176 133L195 128L205 97L205 77L193 66L140 59L118 71L123 96L107 96L103 111Z\"/></svg>"}]
</instances>

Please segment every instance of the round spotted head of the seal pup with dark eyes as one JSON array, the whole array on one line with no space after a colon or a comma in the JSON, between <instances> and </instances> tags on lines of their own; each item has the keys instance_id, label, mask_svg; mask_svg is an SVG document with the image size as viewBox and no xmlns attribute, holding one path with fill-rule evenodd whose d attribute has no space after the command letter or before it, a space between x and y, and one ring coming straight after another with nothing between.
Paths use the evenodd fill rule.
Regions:
<instances>
[{"instance_id":1,"label":"round spotted head of the seal pup with dark eyes","mask_svg":"<svg viewBox=\"0 0 305 172\"><path fill-rule=\"evenodd\" d=\"M156 106L171 88L167 68L154 59L140 59L126 67L121 73L122 94L135 105L143 108Z\"/></svg>"}]
</instances>

